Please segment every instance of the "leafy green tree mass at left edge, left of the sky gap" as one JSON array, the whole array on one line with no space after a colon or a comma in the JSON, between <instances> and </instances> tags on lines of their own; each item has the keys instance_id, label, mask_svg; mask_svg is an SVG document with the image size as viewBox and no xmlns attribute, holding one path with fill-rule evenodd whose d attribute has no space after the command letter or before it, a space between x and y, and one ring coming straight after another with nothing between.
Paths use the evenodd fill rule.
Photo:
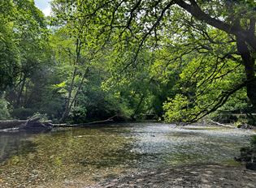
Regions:
<instances>
[{"instance_id":1,"label":"leafy green tree mass at left edge, left of the sky gap","mask_svg":"<svg viewBox=\"0 0 256 188\"><path fill-rule=\"evenodd\" d=\"M1 1L0 9L1 93L5 92L8 105L13 107L9 108L11 115L28 118L41 110L49 86L53 68L50 32L33 1Z\"/></svg>"}]
</instances>

